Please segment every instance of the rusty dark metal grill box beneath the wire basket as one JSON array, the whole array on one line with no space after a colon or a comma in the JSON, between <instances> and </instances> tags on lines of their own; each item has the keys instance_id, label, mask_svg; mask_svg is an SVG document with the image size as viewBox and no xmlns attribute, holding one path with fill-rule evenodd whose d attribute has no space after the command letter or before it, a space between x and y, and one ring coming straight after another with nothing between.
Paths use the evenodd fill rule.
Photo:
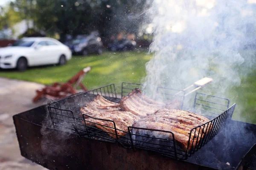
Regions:
<instances>
[{"instance_id":1,"label":"rusty dark metal grill box beneath the wire basket","mask_svg":"<svg viewBox=\"0 0 256 170\"><path fill-rule=\"evenodd\" d=\"M50 170L253 170L256 125L230 120L204 149L177 161L151 151L79 136L47 123L47 106L13 116L21 155ZM241 127L243 127L241 130ZM254 150L250 150L254 148ZM250 151L249 151L250 150ZM249 160L250 159L250 160ZM241 161L242 160L242 161ZM226 164L230 163L230 166ZM240 163L239 163L240 162ZM250 163L250 165L248 164ZM250 167L249 167L250 166ZM235 168L236 167L236 168ZM248 169L249 168L249 169Z\"/></svg>"}]
</instances>

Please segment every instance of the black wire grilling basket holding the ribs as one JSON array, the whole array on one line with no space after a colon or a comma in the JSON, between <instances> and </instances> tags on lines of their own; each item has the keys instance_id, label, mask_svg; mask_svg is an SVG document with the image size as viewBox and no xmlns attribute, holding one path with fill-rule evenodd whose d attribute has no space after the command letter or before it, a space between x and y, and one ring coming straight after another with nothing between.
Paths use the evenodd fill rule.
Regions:
<instances>
[{"instance_id":1,"label":"black wire grilling basket holding the ribs","mask_svg":"<svg viewBox=\"0 0 256 170\"><path fill-rule=\"evenodd\" d=\"M122 83L122 96L127 95L134 88L138 87L141 88L140 84ZM116 128L116 123L114 121L100 119L102 121L108 121L113 124L113 126L108 127L114 129L115 133L112 133L112 135L116 136L116 138L112 138L108 135L109 132L106 133L104 130L100 130L95 126L87 125L88 121L85 119L85 116L93 119L97 118L86 114L83 114L82 116L80 108L84 107L86 103L92 101L97 94L101 94L106 99L118 103L120 99L116 97L115 89L116 88L114 84L106 85L89 92L70 96L57 102L51 103L48 107L48 110L49 117L52 121L52 127L60 128L61 130L71 130L76 132L79 136L84 136L90 139L118 143L125 149L140 148L143 150L151 150L175 159L186 160L189 156L198 151L219 133L221 128L226 124L227 120L231 119L235 109L235 104L229 107L230 102L228 99L197 93L193 103L193 111L195 113L200 111L199 114L208 117L210 121L190 130L187 145L188 149L182 150L179 147L179 144L175 141L175 136L171 131L145 129L138 127L128 127L127 131L122 131ZM182 103L180 109L185 110L183 108L185 94L184 91L168 88L158 88L157 91L159 95L164 95L165 98L169 100L174 98L179 99ZM179 92L179 95L175 96L177 92ZM82 122L84 122L84 124ZM100 124L97 125L105 126ZM140 133L141 130L143 130L143 133ZM117 131L125 132L126 135L119 136ZM203 133L196 136L196 134L199 134L200 131L209 132L205 136L202 136ZM169 134L168 136L172 136L172 139L148 135L147 132L166 133ZM191 146L190 149L189 145Z\"/></svg>"}]
</instances>

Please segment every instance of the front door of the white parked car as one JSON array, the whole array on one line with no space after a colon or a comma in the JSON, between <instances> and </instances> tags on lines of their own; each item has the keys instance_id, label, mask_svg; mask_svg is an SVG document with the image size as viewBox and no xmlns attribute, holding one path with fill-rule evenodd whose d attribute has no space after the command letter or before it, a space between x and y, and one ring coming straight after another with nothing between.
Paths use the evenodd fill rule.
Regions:
<instances>
[{"instance_id":1,"label":"front door of the white parked car","mask_svg":"<svg viewBox=\"0 0 256 170\"><path fill-rule=\"evenodd\" d=\"M31 55L32 65L46 65L48 64L49 50L46 41L40 41L35 46L35 52Z\"/></svg>"}]
</instances>

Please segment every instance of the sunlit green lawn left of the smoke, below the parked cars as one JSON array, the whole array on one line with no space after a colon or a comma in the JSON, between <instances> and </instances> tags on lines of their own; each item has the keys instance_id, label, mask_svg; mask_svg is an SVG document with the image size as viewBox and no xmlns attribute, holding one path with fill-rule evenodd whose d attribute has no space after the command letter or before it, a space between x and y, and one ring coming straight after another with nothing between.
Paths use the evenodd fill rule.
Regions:
<instances>
[{"instance_id":1,"label":"sunlit green lawn left of the smoke, below the parked cars","mask_svg":"<svg viewBox=\"0 0 256 170\"><path fill-rule=\"evenodd\" d=\"M67 82L78 71L91 66L92 70L83 80L88 89L115 83L117 92L120 92L121 82L140 82L145 76L145 63L150 59L151 55L146 52L106 52L100 56L75 56L64 66L35 67L24 72L1 70L0 77L51 85L54 82Z\"/></svg>"}]
</instances>

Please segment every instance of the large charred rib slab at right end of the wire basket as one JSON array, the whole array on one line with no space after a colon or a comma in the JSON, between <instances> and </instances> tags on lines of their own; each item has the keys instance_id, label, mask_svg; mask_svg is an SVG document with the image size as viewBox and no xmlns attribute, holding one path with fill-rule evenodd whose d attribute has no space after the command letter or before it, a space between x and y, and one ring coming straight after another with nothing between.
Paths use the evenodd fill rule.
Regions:
<instances>
[{"instance_id":1,"label":"large charred rib slab at right end of the wire basket","mask_svg":"<svg viewBox=\"0 0 256 170\"><path fill-rule=\"evenodd\" d=\"M133 126L171 131L174 134L175 140L180 144L180 147L186 151L187 148L189 150L192 147L194 148L195 144L199 143L199 138L203 138L204 135L209 132L211 126L202 126L200 131L198 128L196 132L193 130L189 142L189 135L191 133L190 130L208 121L209 119L195 113L177 109L161 109L155 114L151 114L143 119L140 119L138 122L134 123ZM143 133L143 131L140 130L140 133L141 132ZM153 135L160 138L172 138L172 133L154 131ZM193 138L198 138L198 140L195 139L193 142Z\"/></svg>"}]
</instances>

